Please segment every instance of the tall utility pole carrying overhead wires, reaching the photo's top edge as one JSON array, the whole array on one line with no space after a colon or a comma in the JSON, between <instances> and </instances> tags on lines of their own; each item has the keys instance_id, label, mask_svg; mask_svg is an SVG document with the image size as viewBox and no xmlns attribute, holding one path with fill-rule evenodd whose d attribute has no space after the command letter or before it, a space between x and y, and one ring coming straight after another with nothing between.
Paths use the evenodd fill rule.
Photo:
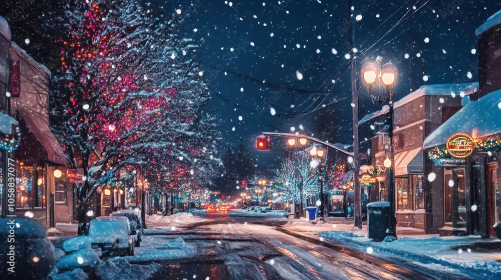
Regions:
<instances>
[{"instance_id":1,"label":"tall utility pole carrying overhead wires, reaching the photo's top edge","mask_svg":"<svg viewBox=\"0 0 501 280\"><path fill-rule=\"evenodd\" d=\"M350 45L351 54L351 94L352 94L352 107L353 107L353 163L355 170L353 174L353 188L355 189L355 219L353 225L362 228L362 192L360 189L360 182L358 174L360 169L360 162L358 159L358 94L357 94L357 70L355 59L355 22L353 21L354 0L348 0L348 20L350 21L348 30L348 44Z\"/></svg>"}]
</instances>

